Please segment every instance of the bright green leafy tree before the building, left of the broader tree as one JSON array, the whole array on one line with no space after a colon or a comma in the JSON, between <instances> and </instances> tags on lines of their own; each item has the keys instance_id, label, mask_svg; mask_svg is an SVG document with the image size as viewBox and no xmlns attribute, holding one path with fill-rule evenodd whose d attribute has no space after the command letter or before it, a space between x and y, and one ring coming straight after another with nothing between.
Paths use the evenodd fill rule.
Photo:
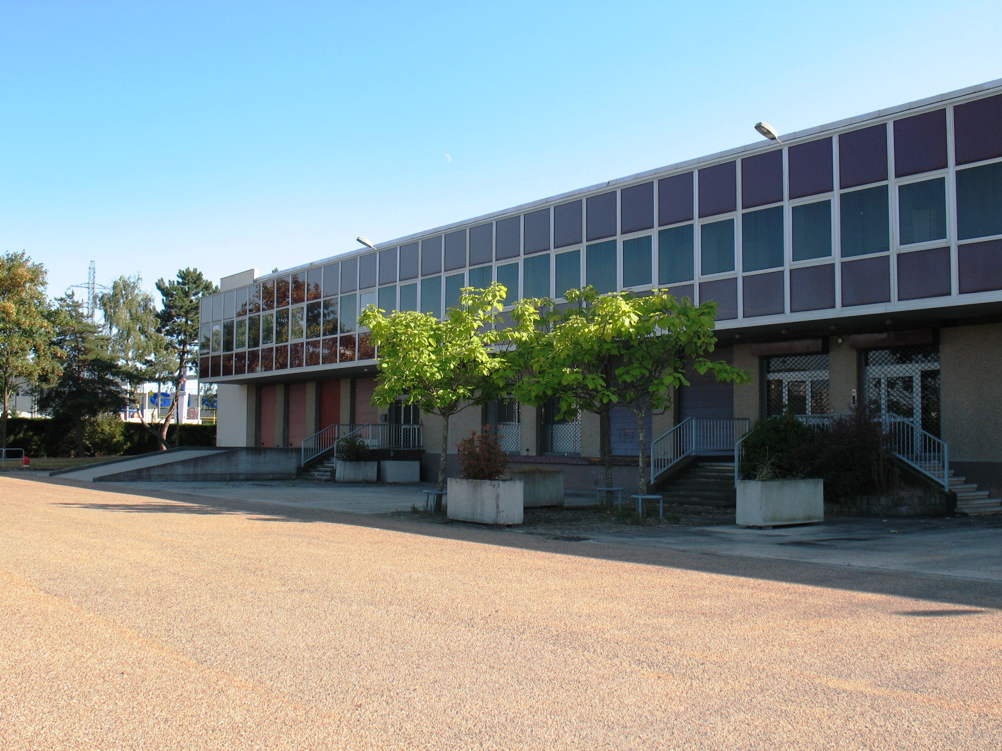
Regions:
<instances>
[{"instance_id":1,"label":"bright green leafy tree before the building, left of the broader tree","mask_svg":"<svg viewBox=\"0 0 1002 751\"><path fill-rule=\"evenodd\" d=\"M493 346L503 336L497 330L499 313L507 294L503 284L487 289L465 288L457 307L443 320L414 311L389 315L373 305L359 322L371 331L379 347L380 379L373 403L390 405L400 400L442 419L438 490L445 490L449 420L471 404L485 404L502 393L499 373L503 358ZM441 496L436 511L441 511Z\"/></svg>"}]
</instances>

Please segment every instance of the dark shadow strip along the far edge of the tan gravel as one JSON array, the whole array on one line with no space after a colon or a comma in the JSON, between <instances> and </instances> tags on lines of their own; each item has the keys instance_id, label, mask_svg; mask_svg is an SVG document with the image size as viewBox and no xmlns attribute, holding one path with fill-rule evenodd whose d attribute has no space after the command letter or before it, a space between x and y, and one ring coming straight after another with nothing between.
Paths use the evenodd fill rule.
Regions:
<instances>
[{"instance_id":1,"label":"dark shadow strip along the far edge of the tan gravel","mask_svg":"<svg viewBox=\"0 0 1002 751\"><path fill-rule=\"evenodd\" d=\"M689 553L664 548L644 546L609 545L598 542L559 540L535 535L512 534L503 528L473 528L459 524L426 524L398 520L385 516L365 516L324 509L287 506L284 504L210 499L184 493L138 491L134 488L117 490L108 484L94 487L91 483L60 480L58 478L32 478L55 486L95 490L124 496L143 496L166 504L72 504L68 507L91 508L100 511L160 514L246 514L253 521L263 522L317 522L339 524L368 529L387 530L409 535L421 535L441 540L458 540L484 545L497 545L518 550L537 551L565 556L579 556L620 563L660 566L668 569L717 574L747 579L759 579L788 584L837 589L850 592L889 595L969 608L1002 610L1002 583L962 579L912 572L880 569L849 568L813 562L781 559L752 558L739 555ZM187 505L187 507L178 506ZM268 516L259 516L268 515ZM903 617L944 617L976 615L976 610L911 610L899 611Z\"/></svg>"}]
</instances>

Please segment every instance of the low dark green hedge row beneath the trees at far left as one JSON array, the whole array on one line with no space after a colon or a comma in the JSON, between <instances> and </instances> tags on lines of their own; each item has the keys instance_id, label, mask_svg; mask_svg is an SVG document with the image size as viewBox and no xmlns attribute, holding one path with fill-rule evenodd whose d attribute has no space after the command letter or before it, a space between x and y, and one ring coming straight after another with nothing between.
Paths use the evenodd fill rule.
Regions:
<instances>
[{"instance_id":1,"label":"low dark green hedge row beneath the trees at far left","mask_svg":"<svg viewBox=\"0 0 1002 751\"><path fill-rule=\"evenodd\" d=\"M139 423L123 423L107 416L84 428L87 456L117 457L147 454L160 448L159 442ZM174 446L215 446L214 425L171 425L167 444ZM24 449L29 457L75 457L73 426L51 418L11 418L7 421L7 446Z\"/></svg>"}]
</instances>

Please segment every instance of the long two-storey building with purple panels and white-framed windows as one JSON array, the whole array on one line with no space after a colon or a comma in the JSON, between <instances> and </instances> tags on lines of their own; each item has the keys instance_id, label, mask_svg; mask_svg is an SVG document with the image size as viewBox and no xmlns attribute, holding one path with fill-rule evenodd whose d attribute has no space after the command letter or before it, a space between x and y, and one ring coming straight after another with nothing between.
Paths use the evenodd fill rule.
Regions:
<instances>
[{"instance_id":1,"label":"long two-storey building with purple panels and white-framed windows","mask_svg":"<svg viewBox=\"0 0 1002 751\"><path fill-rule=\"evenodd\" d=\"M331 426L342 428L327 435L420 424L413 411L370 405L375 352L357 317L371 302L441 315L462 287L492 280L509 302L583 284L659 286L714 300L716 354L755 380L694 379L670 414L651 417L648 435L687 419L754 423L863 401L910 421L951 469L999 495L1002 80L781 139L375 250L224 277L201 306L200 378L219 385L219 444L296 449L319 446L311 437ZM496 425L514 461L560 466L583 489L600 480L592 422L499 404L460 413L452 435ZM438 430L428 420L398 448L417 441L435 466ZM625 410L612 439L628 484L637 439Z\"/></svg>"}]
</instances>

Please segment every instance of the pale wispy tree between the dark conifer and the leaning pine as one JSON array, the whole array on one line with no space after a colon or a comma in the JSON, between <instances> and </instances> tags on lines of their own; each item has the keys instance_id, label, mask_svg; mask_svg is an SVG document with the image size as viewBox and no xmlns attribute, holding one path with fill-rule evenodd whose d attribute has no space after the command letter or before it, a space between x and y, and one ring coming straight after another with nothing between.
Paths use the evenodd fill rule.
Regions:
<instances>
[{"instance_id":1,"label":"pale wispy tree between the dark conifer and the leaning pine","mask_svg":"<svg viewBox=\"0 0 1002 751\"><path fill-rule=\"evenodd\" d=\"M118 363L127 386L130 408L146 430L159 437L162 426L146 422L142 410L144 384L169 382L177 371L177 355L157 329L156 303L142 288L142 278L119 276L99 299L104 314L108 355Z\"/></svg>"}]
</instances>

